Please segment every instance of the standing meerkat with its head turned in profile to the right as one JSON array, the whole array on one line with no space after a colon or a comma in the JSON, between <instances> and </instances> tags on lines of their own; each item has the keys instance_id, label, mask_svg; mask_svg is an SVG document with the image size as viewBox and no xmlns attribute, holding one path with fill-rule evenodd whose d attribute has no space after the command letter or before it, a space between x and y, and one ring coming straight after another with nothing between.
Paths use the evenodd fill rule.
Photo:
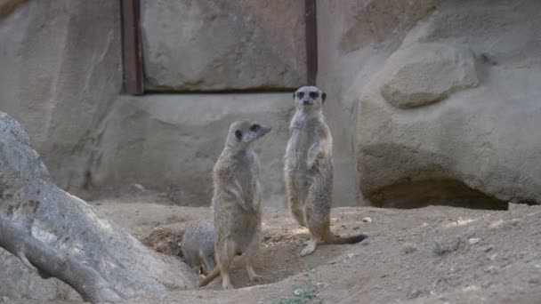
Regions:
<instances>
[{"instance_id":1,"label":"standing meerkat with its head turned in profile to the right","mask_svg":"<svg viewBox=\"0 0 541 304\"><path fill-rule=\"evenodd\" d=\"M238 121L230 125L225 148L214 164L213 213L216 236L216 267L199 284L205 286L222 274L224 289L232 289L230 263L235 255L246 253L246 272L251 281L254 258L261 243L262 188L259 161L252 148L254 140L271 131L271 127Z\"/></svg>"}]
</instances>

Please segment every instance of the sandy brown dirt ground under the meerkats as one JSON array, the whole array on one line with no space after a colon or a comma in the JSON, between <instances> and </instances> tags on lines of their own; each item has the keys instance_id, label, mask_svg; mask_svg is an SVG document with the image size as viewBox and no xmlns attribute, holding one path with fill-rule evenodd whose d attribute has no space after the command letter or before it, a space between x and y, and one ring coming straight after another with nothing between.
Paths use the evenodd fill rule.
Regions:
<instances>
[{"instance_id":1,"label":"sandy brown dirt ground under the meerkats","mask_svg":"<svg viewBox=\"0 0 541 304\"><path fill-rule=\"evenodd\" d=\"M174 240L190 220L207 218L210 210L162 199L144 195L91 204L149 246L178 257ZM307 230L287 210L265 208L262 229L261 257L254 267L260 282L247 279L244 257L238 257L231 273L235 290L222 291L217 278L204 288L128 302L541 303L539 205L510 204L508 211L335 208L335 233L369 238L321 244L304 258L298 253Z\"/></svg>"}]
</instances>

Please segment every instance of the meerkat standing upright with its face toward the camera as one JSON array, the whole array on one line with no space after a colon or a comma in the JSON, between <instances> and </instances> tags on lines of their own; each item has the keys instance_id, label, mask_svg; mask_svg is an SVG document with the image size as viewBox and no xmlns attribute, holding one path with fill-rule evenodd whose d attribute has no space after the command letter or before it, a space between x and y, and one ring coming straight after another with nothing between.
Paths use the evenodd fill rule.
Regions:
<instances>
[{"instance_id":1,"label":"meerkat standing upright with its face toward the camera","mask_svg":"<svg viewBox=\"0 0 541 304\"><path fill-rule=\"evenodd\" d=\"M301 256L314 252L319 241L355 244L367 238L335 236L330 230L334 165L333 138L322 111L326 97L315 86L303 86L293 95L296 110L289 125L284 173L289 209L311 234Z\"/></svg>"}]
</instances>

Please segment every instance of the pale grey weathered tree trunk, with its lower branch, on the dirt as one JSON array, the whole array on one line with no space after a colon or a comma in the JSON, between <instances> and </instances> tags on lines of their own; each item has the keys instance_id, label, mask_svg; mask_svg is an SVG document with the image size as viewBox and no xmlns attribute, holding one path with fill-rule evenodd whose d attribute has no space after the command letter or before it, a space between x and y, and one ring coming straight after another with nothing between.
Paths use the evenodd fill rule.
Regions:
<instances>
[{"instance_id":1,"label":"pale grey weathered tree trunk, with its lower branch, on the dirt","mask_svg":"<svg viewBox=\"0 0 541 304\"><path fill-rule=\"evenodd\" d=\"M56 187L28 134L1 112L0 247L92 302L187 288L198 280L187 265L151 251Z\"/></svg>"}]
</instances>

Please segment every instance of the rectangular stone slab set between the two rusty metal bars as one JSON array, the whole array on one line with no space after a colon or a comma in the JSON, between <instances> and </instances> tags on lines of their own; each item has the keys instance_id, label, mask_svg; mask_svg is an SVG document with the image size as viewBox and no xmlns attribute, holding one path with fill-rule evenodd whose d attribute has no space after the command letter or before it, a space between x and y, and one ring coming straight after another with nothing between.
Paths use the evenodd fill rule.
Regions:
<instances>
[{"instance_id":1,"label":"rectangular stone slab set between the two rusty metal bars","mask_svg":"<svg viewBox=\"0 0 541 304\"><path fill-rule=\"evenodd\" d=\"M143 0L141 35L150 90L278 89L306 81L303 1Z\"/></svg>"}]
</instances>

